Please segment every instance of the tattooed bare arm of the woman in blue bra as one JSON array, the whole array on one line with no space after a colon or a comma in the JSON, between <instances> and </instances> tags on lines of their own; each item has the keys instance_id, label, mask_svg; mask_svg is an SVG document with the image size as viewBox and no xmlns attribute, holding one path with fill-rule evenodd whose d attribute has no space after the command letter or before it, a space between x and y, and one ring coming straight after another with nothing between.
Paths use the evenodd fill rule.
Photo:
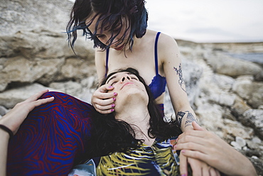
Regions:
<instances>
[{"instance_id":1,"label":"tattooed bare arm of the woman in blue bra","mask_svg":"<svg viewBox=\"0 0 263 176\"><path fill-rule=\"evenodd\" d=\"M192 122L196 119L188 101L186 85L183 82L183 70L178 45L173 38L166 35L160 35L159 41L159 58L163 64L163 70L160 69L160 71L166 76L176 119L181 123L181 131L192 130Z\"/></svg>"}]
</instances>

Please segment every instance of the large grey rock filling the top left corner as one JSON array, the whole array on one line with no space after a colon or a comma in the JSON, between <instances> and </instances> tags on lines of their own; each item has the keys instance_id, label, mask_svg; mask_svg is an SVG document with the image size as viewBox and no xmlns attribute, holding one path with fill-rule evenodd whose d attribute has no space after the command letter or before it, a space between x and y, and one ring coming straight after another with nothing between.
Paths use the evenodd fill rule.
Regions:
<instances>
[{"instance_id":1,"label":"large grey rock filling the top left corner","mask_svg":"<svg viewBox=\"0 0 263 176\"><path fill-rule=\"evenodd\" d=\"M17 31L28 31L43 26L51 31L64 32L72 6L72 1L59 0L1 1L1 35L14 35Z\"/></svg>"}]
</instances>

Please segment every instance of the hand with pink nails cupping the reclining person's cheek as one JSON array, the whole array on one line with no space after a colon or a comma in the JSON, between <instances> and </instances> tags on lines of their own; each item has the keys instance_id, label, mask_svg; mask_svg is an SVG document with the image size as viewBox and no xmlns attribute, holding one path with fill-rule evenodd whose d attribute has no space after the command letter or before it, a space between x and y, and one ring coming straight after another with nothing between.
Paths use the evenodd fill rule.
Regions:
<instances>
[{"instance_id":1,"label":"hand with pink nails cupping the reclining person's cheek","mask_svg":"<svg viewBox=\"0 0 263 176\"><path fill-rule=\"evenodd\" d=\"M111 92L107 93L109 90L114 89L109 84L104 84L99 89L97 89L92 95L92 105L95 107L96 111L101 114L109 114L114 111L114 101L116 100L117 93Z\"/></svg>"}]
</instances>

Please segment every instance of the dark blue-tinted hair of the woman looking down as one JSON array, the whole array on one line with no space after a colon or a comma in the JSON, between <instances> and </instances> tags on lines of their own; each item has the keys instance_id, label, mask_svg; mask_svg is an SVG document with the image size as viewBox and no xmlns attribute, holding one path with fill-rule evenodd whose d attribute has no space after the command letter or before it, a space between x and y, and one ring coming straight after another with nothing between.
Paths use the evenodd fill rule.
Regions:
<instances>
[{"instance_id":1,"label":"dark blue-tinted hair of the woman looking down","mask_svg":"<svg viewBox=\"0 0 263 176\"><path fill-rule=\"evenodd\" d=\"M125 33L122 38L119 38L117 44L122 43L124 38L128 36L126 45L129 45L129 49L132 50L134 35L136 38L141 38L146 33L148 13L144 4L144 0L75 0L67 26L70 46L73 48L75 40L77 40L77 30L81 29L83 35L94 40L94 47L107 49L112 45L114 38L119 35L122 28L125 27ZM95 16L86 24L87 18L93 14ZM91 33L88 27L96 17L95 32ZM103 28L98 28L99 24ZM96 36L100 30L107 30L112 33L107 45L104 45Z\"/></svg>"}]
</instances>

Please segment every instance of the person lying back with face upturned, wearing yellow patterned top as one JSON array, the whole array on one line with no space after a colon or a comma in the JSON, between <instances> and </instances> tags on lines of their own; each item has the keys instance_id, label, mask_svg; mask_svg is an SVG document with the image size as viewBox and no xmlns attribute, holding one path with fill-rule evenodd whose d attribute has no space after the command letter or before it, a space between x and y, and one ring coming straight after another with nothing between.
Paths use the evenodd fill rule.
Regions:
<instances>
[{"instance_id":1,"label":"person lying back with face upturned, wearing yellow patterned top","mask_svg":"<svg viewBox=\"0 0 263 176\"><path fill-rule=\"evenodd\" d=\"M73 116L79 116L78 118L82 119L81 115L90 114L90 111L87 110L90 106L67 94L47 90L39 92L17 104L14 109L3 116L0 119L0 175L6 175L8 142L13 143L19 137L26 139L20 145L29 145L35 155L33 160L28 160L26 153L19 155L21 151L9 148L9 155L13 155L17 162L21 162L22 158L23 163L21 162L21 165L18 166L18 163L8 163L14 166L9 168L8 175L179 175L181 173L178 158L173 149L180 149L183 155L203 160L206 165L212 166L203 167L201 175L218 176L220 172L227 175L257 175L252 163L245 156L218 136L205 131L197 123L193 122L195 131L181 134L176 144L172 137L181 133L177 122L163 121L149 88L144 79L137 75L136 70L127 69L115 72L109 75L105 82L112 84L114 91L119 93L119 99L116 100L116 111L107 115L92 114L94 121L89 130L91 138L88 138L87 141L88 148L75 148L79 144L73 145L78 141L75 139L77 136L85 135L81 124L75 121L68 124L69 126L63 124L68 118L73 119ZM68 99L66 106L63 99ZM43 109L49 110L46 112L49 116L45 116ZM82 114L77 114L76 109L78 111L82 109ZM55 121L58 122L56 124L60 124L62 133L53 128L54 126L51 128L46 126L48 131L56 131L57 135L43 138L43 145L32 143L30 140L34 142L35 138L27 139L27 134L35 132L35 128L41 126L42 123L47 124L45 119L48 121L56 119ZM85 123L84 120L83 123ZM15 136L13 136L14 133ZM189 140L193 137L195 137L193 140ZM39 142L38 139L36 141ZM53 155L58 145L49 145L48 141L56 141L63 145L64 153L60 153L62 160L58 160L59 155ZM189 145L191 141L193 143ZM46 147L52 149L45 150ZM73 155L82 155L82 160L88 161L77 165L70 172L73 165L63 158L67 156L67 151ZM39 161L38 158L53 158L55 163L49 160ZM43 163L44 161L48 163ZM80 163L80 160L76 162ZM31 165L24 168L24 163ZM43 170L34 170L33 165L38 164L43 165ZM199 175L199 173L193 172L193 175Z\"/></svg>"}]
</instances>

